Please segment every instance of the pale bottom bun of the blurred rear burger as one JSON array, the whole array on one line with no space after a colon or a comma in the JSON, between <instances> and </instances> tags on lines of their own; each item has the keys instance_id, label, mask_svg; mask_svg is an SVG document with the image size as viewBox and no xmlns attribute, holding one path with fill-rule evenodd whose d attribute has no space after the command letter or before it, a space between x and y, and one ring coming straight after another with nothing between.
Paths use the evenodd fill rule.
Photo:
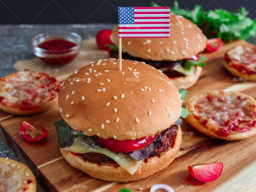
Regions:
<instances>
[{"instance_id":1,"label":"pale bottom bun of the blurred rear burger","mask_svg":"<svg viewBox=\"0 0 256 192\"><path fill-rule=\"evenodd\" d=\"M202 67L195 66L195 72L194 76L188 76L185 77L179 77L179 78L173 78L171 79L173 81L173 84L178 89L188 89L189 87L192 87L199 79L200 75L202 73Z\"/></svg>"}]
</instances>

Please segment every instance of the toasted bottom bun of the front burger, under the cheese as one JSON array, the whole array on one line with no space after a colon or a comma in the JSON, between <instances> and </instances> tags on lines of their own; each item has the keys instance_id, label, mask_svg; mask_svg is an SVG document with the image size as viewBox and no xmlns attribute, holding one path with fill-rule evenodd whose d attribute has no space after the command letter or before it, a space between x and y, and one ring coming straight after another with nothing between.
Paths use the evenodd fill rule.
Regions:
<instances>
[{"instance_id":1,"label":"toasted bottom bun of the front burger, under the cheese","mask_svg":"<svg viewBox=\"0 0 256 192\"><path fill-rule=\"evenodd\" d=\"M141 166L138 167L137 171L133 175L126 172L120 166L99 166L97 163L86 161L80 156L71 154L69 151L61 149L61 153L72 167L87 173L91 177L114 182L138 181L165 169L175 159L181 147L181 137L181 127L179 127L174 146L169 147L169 149L163 152L160 156L147 159L146 162L143 162Z\"/></svg>"}]
</instances>

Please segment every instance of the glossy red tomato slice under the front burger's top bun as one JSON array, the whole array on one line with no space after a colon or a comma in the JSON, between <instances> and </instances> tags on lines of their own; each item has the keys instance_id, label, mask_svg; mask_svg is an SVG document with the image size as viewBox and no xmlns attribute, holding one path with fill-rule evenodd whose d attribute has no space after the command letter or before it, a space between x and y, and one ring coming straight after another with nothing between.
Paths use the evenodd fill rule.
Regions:
<instances>
[{"instance_id":1,"label":"glossy red tomato slice under the front burger's top bun","mask_svg":"<svg viewBox=\"0 0 256 192\"><path fill-rule=\"evenodd\" d=\"M130 152L130 151L136 151L139 150L146 145L149 145L152 143L156 138L158 134L152 135L151 137L143 137L140 139L135 139L134 141L132 140L124 140L124 141L119 141L115 140L113 138L109 139L103 139L99 138L98 136L94 136L94 138L104 147L109 149L110 151L119 153L119 152Z\"/></svg>"}]
</instances>

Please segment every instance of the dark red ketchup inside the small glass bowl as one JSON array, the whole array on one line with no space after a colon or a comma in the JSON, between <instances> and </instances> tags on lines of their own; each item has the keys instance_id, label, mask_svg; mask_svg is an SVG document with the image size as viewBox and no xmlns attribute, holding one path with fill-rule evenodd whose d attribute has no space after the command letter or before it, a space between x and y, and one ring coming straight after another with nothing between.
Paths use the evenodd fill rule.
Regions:
<instances>
[{"instance_id":1,"label":"dark red ketchup inside the small glass bowl","mask_svg":"<svg viewBox=\"0 0 256 192\"><path fill-rule=\"evenodd\" d=\"M46 40L38 47L44 49L42 52L45 53L45 57L39 57L43 62L51 65L63 65L72 61L76 56L77 52L69 54L73 51L70 49L77 46L77 44L62 38ZM48 56L49 55L49 56Z\"/></svg>"}]
</instances>

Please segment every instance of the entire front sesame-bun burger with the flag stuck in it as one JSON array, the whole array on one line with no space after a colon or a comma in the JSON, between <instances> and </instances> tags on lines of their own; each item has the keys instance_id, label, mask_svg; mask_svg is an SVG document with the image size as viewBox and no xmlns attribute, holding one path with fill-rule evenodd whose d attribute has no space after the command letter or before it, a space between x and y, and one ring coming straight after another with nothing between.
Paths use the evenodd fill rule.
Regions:
<instances>
[{"instance_id":1,"label":"entire front sesame-bun burger with the flag stuck in it","mask_svg":"<svg viewBox=\"0 0 256 192\"><path fill-rule=\"evenodd\" d=\"M106 181L137 181L166 168L181 146L183 93L144 62L110 58L62 84L55 122L69 164Z\"/></svg>"}]
</instances>

